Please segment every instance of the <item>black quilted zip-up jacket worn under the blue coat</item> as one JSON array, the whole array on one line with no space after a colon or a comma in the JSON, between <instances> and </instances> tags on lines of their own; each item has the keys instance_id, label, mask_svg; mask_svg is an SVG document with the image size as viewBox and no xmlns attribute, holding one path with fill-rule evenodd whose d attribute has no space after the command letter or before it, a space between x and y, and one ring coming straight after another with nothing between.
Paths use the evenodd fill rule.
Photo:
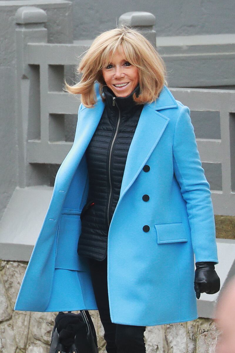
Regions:
<instances>
[{"instance_id":1,"label":"black quilted zip-up jacket worn under the blue coat","mask_svg":"<svg viewBox=\"0 0 235 353\"><path fill-rule=\"evenodd\" d=\"M133 93L116 97L104 86L105 109L86 149L89 177L87 202L81 212L78 254L103 260L107 255L107 237L116 208L126 157L143 104L136 104ZM123 229L125 232L125 229Z\"/></svg>"}]
</instances>

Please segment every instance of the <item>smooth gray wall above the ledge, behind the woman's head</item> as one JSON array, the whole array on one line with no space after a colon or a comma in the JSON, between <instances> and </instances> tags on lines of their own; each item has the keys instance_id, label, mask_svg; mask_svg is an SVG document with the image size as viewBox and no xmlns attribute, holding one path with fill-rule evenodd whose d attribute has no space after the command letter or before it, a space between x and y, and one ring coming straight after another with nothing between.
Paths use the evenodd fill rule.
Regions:
<instances>
[{"instance_id":1,"label":"smooth gray wall above the ledge, behind the woman's head","mask_svg":"<svg viewBox=\"0 0 235 353\"><path fill-rule=\"evenodd\" d=\"M112 29L124 12L156 17L157 36L234 33L234 0L72 0L74 39L91 39Z\"/></svg>"}]
</instances>

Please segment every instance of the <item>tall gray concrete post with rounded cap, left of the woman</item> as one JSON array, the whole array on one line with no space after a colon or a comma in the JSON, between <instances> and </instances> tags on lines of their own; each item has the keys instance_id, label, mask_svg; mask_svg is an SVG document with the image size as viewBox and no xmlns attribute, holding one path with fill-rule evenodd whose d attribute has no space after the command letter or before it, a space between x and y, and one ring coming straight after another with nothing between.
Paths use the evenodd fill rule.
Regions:
<instances>
[{"instance_id":1,"label":"tall gray concrete post with rounded cap, left of the woman","mask_svg":"<svg viewBox=\"0 0 235 353\"><path fill-rule=\"evenodd\" d=\"M34 6L23 6L16 12L16 115L18 127L18 185L27 186L27 175L32 168L26 160L28 133L40 139L40 88L39 66L27 64L27 44L47 42L47 14ZM30 119L33 117L33 119Z\"/></svg>"}]
</instances>

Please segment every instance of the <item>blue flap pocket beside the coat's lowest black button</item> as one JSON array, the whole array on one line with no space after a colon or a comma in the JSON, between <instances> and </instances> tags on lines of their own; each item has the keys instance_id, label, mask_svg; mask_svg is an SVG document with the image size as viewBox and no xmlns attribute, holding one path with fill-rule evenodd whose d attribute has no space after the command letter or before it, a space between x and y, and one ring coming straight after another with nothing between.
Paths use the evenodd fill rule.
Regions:
<instances>
[{"instance_id":1,"label":"blue flap pocket beside the coat's lowest black button","mask_svg":"<svg viewBox=\"0 0 235 353\"><path fill-rule=\"evenodd\" d=\"M155 224L157 244L188 241L183 223Z\"/></svg>"}]
</instances>

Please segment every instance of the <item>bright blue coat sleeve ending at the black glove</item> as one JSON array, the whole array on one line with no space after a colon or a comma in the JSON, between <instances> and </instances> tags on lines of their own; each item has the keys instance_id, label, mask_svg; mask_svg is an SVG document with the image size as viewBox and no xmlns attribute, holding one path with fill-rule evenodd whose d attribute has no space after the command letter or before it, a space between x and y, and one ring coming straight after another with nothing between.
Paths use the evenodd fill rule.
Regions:
<instances>
[{"instance_id":1,"label":"bright blue coat sleeve ending at the black glove","mask_svg":"<svg viewBox=\"0 0 235 353\"><path fill-rule=\"evenodd\" d=\"M186 201L195 261L218 263L210 185L197 149L190 109L180 107L173 139L173 168Z\"/></svg>"}]
</instances>

